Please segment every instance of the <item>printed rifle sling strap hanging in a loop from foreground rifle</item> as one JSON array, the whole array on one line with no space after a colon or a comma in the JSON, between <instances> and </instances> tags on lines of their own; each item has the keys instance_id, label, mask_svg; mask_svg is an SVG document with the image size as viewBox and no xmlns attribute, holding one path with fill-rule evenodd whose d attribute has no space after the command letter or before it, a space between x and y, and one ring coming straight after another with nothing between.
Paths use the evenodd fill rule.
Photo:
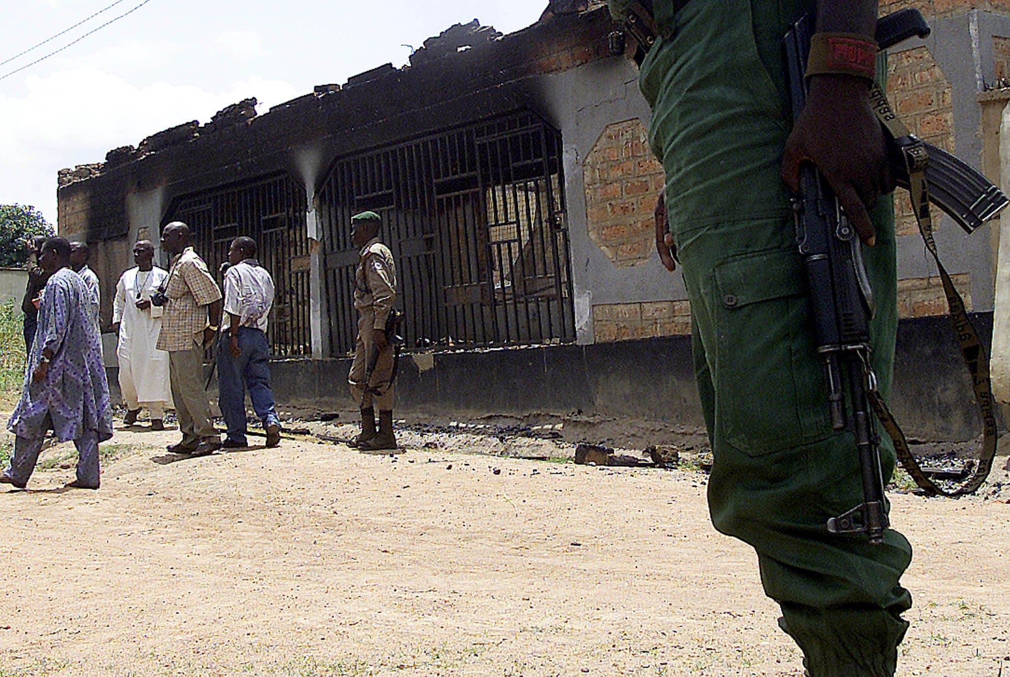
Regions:
<instances>
[{"instance_id":1,"label":"printed rifle sling strap hanging in a loop from foreground rifle","mask_svg":"<svg viewBox=\"0 0 1010 677\"><path fill-rule=\"evenodd\" d=\"M878 419L880 419L881 425L884 426L884 430L887 431L888 435L894 441L895 453L898 456L898 460L901 461L902 466L904 466L905 470L920 488L929 495L957 496L972 493L986 481L986 477L993 467L993 460L996 457L998 431L993 393L989 381L989 356L986 354L986 349L982 345L982 341L979 340L979 334L975 329L975 325L972 324L971 319L968 317L965 302L954 288L950 275L940 262L939 253L936 249L936 240L933 238L932 218L929 213L929 186L925 177L926 164L928 162L928 153L926 152L925 145L920 139L909 133L905 125L898 119L898 116L895 115L887 101L887 96L879 85L873 86L871 100L881 124L887 128L888 132L898 143L899 148L901 148L905 165L908 168L909 195L912 199L912 211L915 214L915 220L918 223L919 233L922 235L926 250L933 257L933 260L936 261L936 268L940 273L940 279L943 284L943 293L946 296L950 322L953 324L954 334L956 334L957 342L961 344L962 357L964 357L965 364L972 377L972 388L982 416L982 453L972 470L971 476L964 484L954 489L947 490L938 486L923 472L918 461L912 455L904 433L901 432L901 428L898 427L898 423L891 415L880 392L877 390L872 391L870 393L870 402Z\"/></svg>"}]
</instances>

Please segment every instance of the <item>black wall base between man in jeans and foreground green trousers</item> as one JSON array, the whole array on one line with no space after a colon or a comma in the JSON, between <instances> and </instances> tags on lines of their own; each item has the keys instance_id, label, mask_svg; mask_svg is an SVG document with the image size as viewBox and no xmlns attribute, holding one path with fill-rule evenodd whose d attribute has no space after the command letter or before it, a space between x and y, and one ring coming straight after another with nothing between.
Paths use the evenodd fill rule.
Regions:
<instances>
[{"instance_id":1,"label":"black wall base between man in jeans and foreground green trousers","mask_svg":"<svg viewBox=\"0 0 1010 677\"><path fill-rule=\"evenodd\" d=\"M690 337L404 355L397 406L459 417L582 410L704 424ZM278 401L354 408L350 359L272 363Z\"/></svg>"}]
</instances>

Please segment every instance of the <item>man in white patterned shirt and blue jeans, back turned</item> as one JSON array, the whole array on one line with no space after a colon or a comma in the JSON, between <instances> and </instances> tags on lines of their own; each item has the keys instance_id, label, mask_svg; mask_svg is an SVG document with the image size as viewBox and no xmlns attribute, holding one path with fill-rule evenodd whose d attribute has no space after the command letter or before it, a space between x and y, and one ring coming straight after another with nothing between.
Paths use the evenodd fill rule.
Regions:
<instances>
[{"instance_id":1,"label":"man in white patterned shirt and blue jeans, back turned","mask_svg":"<svg viewBox=\"0 0 1010 677\"><path fill-rule=\"evenodd\" d=\"M224 273L222 340L217 352L218 405L227 426L224 448L248 446L245 439L245 388L267 431L267 446L281 443L281 425L270 386L268 316L274 305L274 280L256 259L251 237L236 237L228 249L231 266Z\"/></svg>"}]
</instances>

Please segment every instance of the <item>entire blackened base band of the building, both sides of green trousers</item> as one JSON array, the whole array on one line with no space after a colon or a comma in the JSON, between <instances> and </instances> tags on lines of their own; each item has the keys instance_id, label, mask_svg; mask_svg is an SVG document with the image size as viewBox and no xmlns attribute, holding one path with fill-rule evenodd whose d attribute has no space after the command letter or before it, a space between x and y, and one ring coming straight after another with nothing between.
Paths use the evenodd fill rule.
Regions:
<instances>
[{"instance_id":1,"label":"entire blackened base band of the building, both sides of green trousers","mask_svg":"<svg viewBox=\"0 0 1010 677\"><path fill-rule=\"evenodd\" d=\"M973 319L988 343L992 313ZM280 408L357 408L347 391L350 362L273 361ZM117 370L108 373L115 398ZM704 426L690 336L404 355L396 385L398 411L438 417L582 412ZM213 383L210 389L216 394ZM947 318L900 323L891 409L910 440L965 441L981 433L971 380ZM1000 429L1006 430L1003 414Z\"/></svg>"}]
</instances>

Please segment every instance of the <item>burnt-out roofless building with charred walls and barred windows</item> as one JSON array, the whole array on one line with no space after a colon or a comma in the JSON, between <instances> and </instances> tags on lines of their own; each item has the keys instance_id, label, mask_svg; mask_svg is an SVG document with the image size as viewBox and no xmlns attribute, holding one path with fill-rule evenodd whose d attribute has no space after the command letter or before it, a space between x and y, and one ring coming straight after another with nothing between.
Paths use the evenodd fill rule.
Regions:
<instances>
[{"instance_id":1,"label":"burnt-out roofless building with charred walls and barred windows","mask_svg":"<svg viewBox=\"0 0 1010 677\"><path fill-rule=\"evenodd\" d=\"M982 166L979 94L1010 68L1010 10L976 4L924 10L933 36L892 53L889 92L910 128ZM475 20L426 40L404 68L260 115L255 99L237 103L61 172L61 233L94 243L106 325L138 237L157 241L185 221L211 266L232 237L255 237L277 285L279 398L349 406L349 217L373 210L401 278L402 406L700 425L690 306L652 245L663 171L645 138L634 44L618 48L615 28L602 2L550 2L515 33ZM967 376L906 202L896 200L896 413L923 436L964 437L977 430ZM937 239L990 326L992 238L943 221ZM944 374L939 392L914 366L924 356Z\"/></svg>"}]
</instances>

